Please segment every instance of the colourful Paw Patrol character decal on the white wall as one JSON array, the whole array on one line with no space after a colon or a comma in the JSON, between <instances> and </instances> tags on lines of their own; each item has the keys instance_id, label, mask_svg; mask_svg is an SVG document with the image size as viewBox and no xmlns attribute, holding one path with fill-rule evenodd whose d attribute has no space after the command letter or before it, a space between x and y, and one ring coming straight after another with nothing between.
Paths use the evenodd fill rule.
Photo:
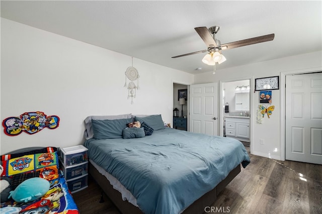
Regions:
<instances>
[{"instance_id":1,"label":"colourful Paw Patrol character decal on the white wall","mask_svg":"<svg viewBox=\"0 0 322 214\"><path fill-rule=\"evenodd\" d=\"M56 129L59 126L58 116L47 116L43 112L25 112L19 117L9 117L2 122L5 134L17 136L22 132L35 134L44 128Z\"/></svg>"}]
</instances>

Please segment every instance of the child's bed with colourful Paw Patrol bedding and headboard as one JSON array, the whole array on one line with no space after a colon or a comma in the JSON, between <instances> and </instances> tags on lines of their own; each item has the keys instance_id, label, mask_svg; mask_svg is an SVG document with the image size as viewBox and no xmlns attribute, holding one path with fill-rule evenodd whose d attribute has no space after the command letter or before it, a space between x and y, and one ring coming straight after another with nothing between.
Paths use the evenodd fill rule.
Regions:
<instances>
[{"instance_id":1,"label":"child's bed with colourful Paw Patrol bedding and headboard","mask_svg":"<svg viewBox=\"0 0 322 214\"><path fill-rule=\"evenodd\" d=\"M2 155L1 164L2 182L6 180L10 184L1 192L1 213L79 214L66 180L59 170L57 148L17 150ZM28 181L32 182L26 184L27 187L24 186ZM47 189L42 187L42 181L48 183ZM20 188L21 186L28 189ZM39 191L43 191L41 196L34 197ZM10 192L12 194L8 198Z\"/></svg>"}]
</instances>

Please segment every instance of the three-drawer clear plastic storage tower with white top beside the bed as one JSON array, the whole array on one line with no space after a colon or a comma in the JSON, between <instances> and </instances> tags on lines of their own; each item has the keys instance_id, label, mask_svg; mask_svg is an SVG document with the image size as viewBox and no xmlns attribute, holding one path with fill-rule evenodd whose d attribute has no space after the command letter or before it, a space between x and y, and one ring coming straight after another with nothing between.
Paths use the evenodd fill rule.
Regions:
<instances>
[{"instance_id":1,"label":"three-drawer clear plastic storage tower with white top beside the bed","mask_svg":"<svg viewBox=\"0 0 322 214\"><path fill-rule=\"evenodd\" d=\"M60 168L71 193L88 187L88 156L83 145L62 148L59 151Z\"/></svg>"}]
</instances>

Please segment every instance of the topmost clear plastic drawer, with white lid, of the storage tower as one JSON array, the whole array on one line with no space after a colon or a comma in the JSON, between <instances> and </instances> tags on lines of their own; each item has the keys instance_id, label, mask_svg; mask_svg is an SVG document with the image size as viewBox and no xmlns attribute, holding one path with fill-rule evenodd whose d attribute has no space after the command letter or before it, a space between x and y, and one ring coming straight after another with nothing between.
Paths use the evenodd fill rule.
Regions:
<instances>
[{"instance_id":1,"label":"topmost clear plastic drawer, with white lid, of the storage tower","mask_svg":"<svg viewBox=\"0 0 322 214\"><path fill-rule=\"evenodd\" d=\"M66 167L87 162L87 150L83 145L62 148L60 150L61 163Z\"/></svg>"}]
</instances>

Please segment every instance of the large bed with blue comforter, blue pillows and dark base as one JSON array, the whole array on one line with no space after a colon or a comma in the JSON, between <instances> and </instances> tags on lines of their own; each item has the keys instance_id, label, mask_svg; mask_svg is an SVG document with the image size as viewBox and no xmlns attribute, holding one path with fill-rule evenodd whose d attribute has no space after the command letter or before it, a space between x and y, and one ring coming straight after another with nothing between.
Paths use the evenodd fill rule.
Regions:
<instances>
[{"instance_id":1,"label":"large bed with blue comforter, blue pillows and dark base","mask_svg":"<svg viewBox=\"0 0 322 214\"><path fill-rule=\"evenodd\" d=\"M167 128L160 115L90 116L85 125L89 172L122 213L202 213L250 163L241 142Z\"/></svg>"}]
</instances>

